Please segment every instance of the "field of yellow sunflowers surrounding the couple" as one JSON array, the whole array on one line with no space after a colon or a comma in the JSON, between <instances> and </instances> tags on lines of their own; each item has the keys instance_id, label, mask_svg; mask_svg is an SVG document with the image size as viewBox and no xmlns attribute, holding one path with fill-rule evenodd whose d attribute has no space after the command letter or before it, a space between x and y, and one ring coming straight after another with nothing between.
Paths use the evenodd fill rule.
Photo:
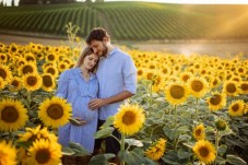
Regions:
<instances>
[{"instance_id":1,"label":"field of yellow sunflowers surrounding the couple","mask_svg":"<svg viewBox=\"0 0 248 165\"><path fill-rule=\"evenodd\" d=\"M126 49L138 68L138 92L95 138L121 132L121 164L200 165L248 162L248 59ZM56 97L60 73L74 66L78 47L0 44L0 164L61 164L87 155L61 146L57 129L71 105ZM98 154L90 165L107 164Z\"/></svg>"}]
</instances>

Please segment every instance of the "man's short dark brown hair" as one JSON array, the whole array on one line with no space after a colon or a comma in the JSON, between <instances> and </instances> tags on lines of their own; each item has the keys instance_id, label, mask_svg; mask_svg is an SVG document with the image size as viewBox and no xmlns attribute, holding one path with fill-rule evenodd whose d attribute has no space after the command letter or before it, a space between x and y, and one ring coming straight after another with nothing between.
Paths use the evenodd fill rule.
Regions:
<instances>
[{"instance_id":1,"label":"man's short dark brown hair","mask_svg":"<svg viewBox=\"0 0 248 165\"><path fill-rule=\"evenodd\" d=\"M91 44L92 40L104 40L104 37L110 37L106 30L102 27L93 28L86 37L86 43Z\"/></svg>"}]
</instances>

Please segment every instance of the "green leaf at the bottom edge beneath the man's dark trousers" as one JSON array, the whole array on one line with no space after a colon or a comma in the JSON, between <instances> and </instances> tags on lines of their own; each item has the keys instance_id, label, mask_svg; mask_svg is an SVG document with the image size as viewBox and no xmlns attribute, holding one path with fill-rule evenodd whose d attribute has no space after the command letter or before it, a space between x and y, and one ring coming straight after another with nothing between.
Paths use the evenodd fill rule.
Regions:
<instances>
[{"instance_id":1,"label":"green leaf at the bottom edge beneath the man's dark trousers","mask_svg":"<svg viewBox=\"0 0 248 165\"><path fill-rule=\"evenodd\" d=\"M98 154L91 158L87 165L108 165L108 158L115 157L115 154Z\"/></svg>"}]
</instances>

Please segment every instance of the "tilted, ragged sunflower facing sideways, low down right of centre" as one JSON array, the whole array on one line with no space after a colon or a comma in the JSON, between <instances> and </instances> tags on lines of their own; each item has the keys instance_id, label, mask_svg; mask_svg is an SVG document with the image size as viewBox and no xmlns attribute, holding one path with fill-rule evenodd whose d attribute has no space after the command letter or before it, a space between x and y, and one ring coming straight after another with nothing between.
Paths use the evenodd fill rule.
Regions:
<instances>
[{"instance_id":1,"label":"tilted, ragged sunflower facing sideways, low down right of centre","mask_svg":"<svg viewBox=\"0 0 248 165\"><path fill-rule=\"evenodd\" d=\"M152 144L152 146L150 146L144 154L153 160L153 161L157 161L160 160L164 153L165 153L165 148L166 148L166 140L161 138L160 140L157 140L155 143Z\"/></svg>"}]
</instances>

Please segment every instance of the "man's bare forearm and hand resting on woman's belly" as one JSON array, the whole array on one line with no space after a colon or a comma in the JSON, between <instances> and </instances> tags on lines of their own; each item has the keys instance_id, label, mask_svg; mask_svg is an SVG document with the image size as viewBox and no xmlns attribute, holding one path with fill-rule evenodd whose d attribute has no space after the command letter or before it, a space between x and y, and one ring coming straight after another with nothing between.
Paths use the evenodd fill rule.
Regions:
<instances>
[{"instance_id":1,"label":"man's bare forearm and hand resting on woman's belly","mask_svg":"<svg viewBox=\"0 0 248 165\"><path fill-rule=\"evenodd\" d=\"M123 91L121 93L118 93L114 96L110 96L110 97L107 97L107 98L95 98L95 99L92 99L90 103L88 103L88 108L90 109L97 109L102 106L105 106L107 104L111 104L111 103L116 103L116 102L121 102L126 98L129 98L131 96L133 96L134 94L132 94L131 92L128 92L128 91Z\"/></svg>"}]
</instances>

